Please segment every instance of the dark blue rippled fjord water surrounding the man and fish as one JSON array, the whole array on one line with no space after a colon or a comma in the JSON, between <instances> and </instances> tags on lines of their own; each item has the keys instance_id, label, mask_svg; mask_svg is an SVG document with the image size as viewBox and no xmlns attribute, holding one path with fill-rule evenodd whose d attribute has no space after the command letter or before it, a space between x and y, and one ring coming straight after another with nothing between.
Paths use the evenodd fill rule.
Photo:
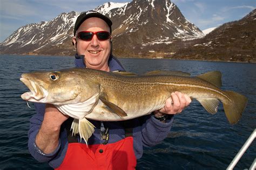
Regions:
<instances>
[{"instance_id":1,"label":"dark blue rippled fjord water surrounding the man and fish","mask_svg":"<svg viewBox=\"0 0 256 170\"><path fill-rule=\"evenodd\" d=\"M28 151L29 119L33 104L21 99L28 91L19 81L24 72L59 70L74 67L73 57L0 56L0 169L52 169L34 160ZM179 70L192 76L219 70L223 90L232 90L248 98L238 124L230 125L223 106L211 115L197 102L175 115L168 137L154 147L144 148L136 169L225 169L256 128L256 64L204 62L167 59L125 59L125 69L135 73L152 70ZM256 140L252 142L234 169L249 168L256 158Z\"/></svg>"}]
</instances>

